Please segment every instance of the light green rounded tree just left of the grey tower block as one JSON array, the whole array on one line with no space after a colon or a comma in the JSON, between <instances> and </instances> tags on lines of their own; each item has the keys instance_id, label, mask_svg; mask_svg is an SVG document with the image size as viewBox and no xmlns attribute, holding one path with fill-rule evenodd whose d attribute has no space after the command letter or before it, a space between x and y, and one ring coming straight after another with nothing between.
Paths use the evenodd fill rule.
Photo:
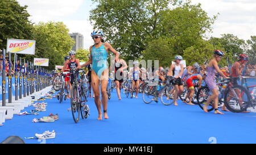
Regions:
<instances>
[{"instance_id":1,"label":"light green rounded tree just left of the grey tower block","mask_svg":"<svg viewBox=\"0 0 256 155\"><path fill-rule=\"evenodd\" d=\"M29 61L34 58L49 58L49 67L61 65L64 57L68 55L74 41L68 35L68 28L62 22L42 23L34 25L33 40L36 40L35 55L21 55Z\"/></svg>"}]
</instances>

